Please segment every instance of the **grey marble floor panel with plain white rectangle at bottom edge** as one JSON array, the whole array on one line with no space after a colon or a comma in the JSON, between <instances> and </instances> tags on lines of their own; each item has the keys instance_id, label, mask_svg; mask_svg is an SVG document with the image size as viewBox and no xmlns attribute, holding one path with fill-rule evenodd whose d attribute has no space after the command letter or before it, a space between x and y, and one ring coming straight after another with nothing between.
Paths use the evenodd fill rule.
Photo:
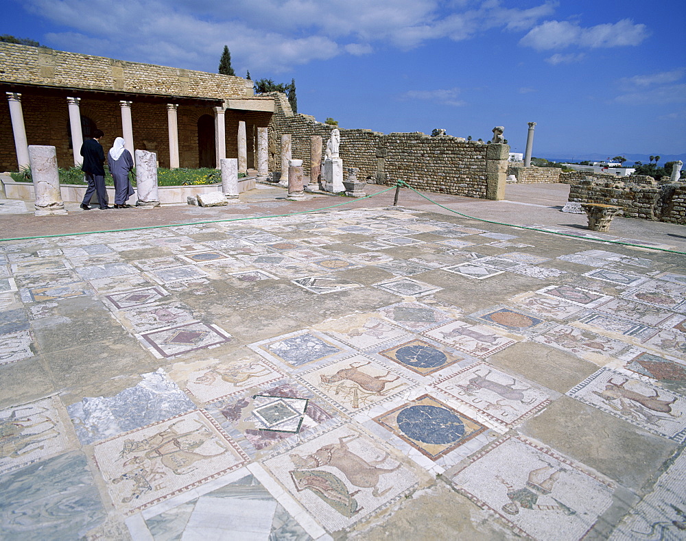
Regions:
<instances>
[{"instance_id":1,"label":"grey marble floor panel with plain white rectangle at bottom edge","mask_svg":"<svg viewBox=\"0 0 686 541\"><path fill-rule=\"evenodd\" d=\"M156 540L311 539L252 475L147 518L146 525Z\"/></svg>"}]
</instances>

